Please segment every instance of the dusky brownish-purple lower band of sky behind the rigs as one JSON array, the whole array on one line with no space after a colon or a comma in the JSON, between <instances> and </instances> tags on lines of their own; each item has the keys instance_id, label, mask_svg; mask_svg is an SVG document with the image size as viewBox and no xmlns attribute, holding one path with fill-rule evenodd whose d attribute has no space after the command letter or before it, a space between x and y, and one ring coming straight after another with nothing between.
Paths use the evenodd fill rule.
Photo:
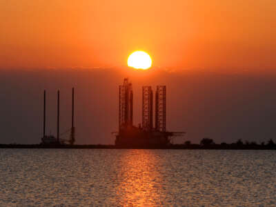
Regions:
<instances>
[{"instance_id":1,"label":"dusky brownish-purple lower band of sky behind the rigs","mask_svg":"<svg viewBox=\"0 0 276 207\"><path fill-rule=\"evenodd\" d=\"M56 135L57 89L61 91L60 132L70 128L75 86L77 144L114 144L118 130L119 84L129 77L134 124L141 123L141 86L167 86L167 130L186 131L176 142L216 143L275 139L276 76L204 70L53 69L0 70L0 143L39 143L43 136L43 89L47 90L47 134Z\"/></svg>"}]
</instances>

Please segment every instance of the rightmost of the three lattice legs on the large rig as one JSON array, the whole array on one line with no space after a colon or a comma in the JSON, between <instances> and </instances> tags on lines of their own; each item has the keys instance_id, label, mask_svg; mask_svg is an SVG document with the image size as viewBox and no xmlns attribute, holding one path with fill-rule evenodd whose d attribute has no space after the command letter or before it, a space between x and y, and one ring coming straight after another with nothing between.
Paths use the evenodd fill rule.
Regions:
<instances>
[{"instance_id":1,"label":"rightmost of the three lattice legs on the large rig","mask_svg":"<svg viewBox=\"0 0 276 207\"><path fill-rule=\"evenodd\" d=\"M157 86L155 94L155 129L166 132L166 86Z\"/></svg>"}]
</instances>

